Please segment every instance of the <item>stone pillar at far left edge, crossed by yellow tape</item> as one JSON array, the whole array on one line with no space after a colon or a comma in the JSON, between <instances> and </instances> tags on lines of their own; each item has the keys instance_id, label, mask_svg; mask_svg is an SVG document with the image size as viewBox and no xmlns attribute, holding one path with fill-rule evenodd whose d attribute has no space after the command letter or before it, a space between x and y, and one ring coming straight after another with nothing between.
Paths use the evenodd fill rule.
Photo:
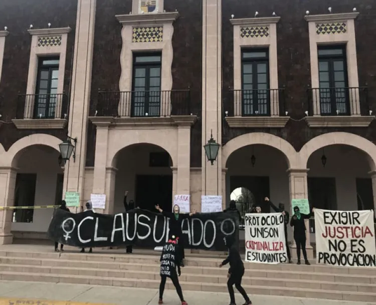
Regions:
<instances>
[{"instance_id":1,"label":"stone pillar at far left edge, crossed by yellow tape","mask_svg":"<svg viewBox=\"0 0 376 305\"><path fill-rule=\"evenodd\" d=\"M15 201L17 168L0 167L0 206L13 206ZM12 209L0 209L0 244L13 243Z\"/></svg>"}]
</instances>

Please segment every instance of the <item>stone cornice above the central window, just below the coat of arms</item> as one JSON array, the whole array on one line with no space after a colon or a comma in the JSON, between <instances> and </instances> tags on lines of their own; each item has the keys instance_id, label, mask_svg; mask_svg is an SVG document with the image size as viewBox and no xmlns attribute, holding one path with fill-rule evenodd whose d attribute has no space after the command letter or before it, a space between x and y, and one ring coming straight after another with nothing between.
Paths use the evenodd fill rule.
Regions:
<instances>
[{"instance_id":1,"label":"stone cornice above the central window, just below the coat of arms","mask_svg":"<svg viewBox=\"0 0 376 305\"><path fill-rule=\"evenodd\" d=\"M123 25L140 23L167 23L175 21L178 16L178 11L148 14L115 15L117 20Z\"/></svg>"}]
</instances>

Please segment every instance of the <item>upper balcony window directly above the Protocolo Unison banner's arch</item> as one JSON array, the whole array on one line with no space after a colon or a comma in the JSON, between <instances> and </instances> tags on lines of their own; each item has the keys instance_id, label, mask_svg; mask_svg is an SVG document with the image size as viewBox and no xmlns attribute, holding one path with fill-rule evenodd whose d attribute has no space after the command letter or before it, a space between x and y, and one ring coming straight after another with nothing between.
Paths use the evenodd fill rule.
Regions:
<instances>
[{"instance_id":1,"label":"upper balcony window directly above the Protocolo Unison banner's arch","mask_svg":"<svg viewBox=\"0 0 376 305\"><path fill-rule=\"evenodd\" d=\"M242 115L270 115L269 50L242 51Z\"/></svg>"}]
</instances>

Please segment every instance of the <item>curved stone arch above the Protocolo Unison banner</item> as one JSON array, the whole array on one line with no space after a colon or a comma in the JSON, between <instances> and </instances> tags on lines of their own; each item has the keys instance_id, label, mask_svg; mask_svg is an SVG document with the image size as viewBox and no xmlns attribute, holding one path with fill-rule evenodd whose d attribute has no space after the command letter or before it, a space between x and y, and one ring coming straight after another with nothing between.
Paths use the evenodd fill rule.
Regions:
<instances>
[{"instance_id":1,"label":"curved stone arch above the Protocolo Unison banner","mask_svg":"<svg viewBox=\"0 0 376 305\"><path fill-rule=\"evenodd\" d=\"M294 147L285 139L267 132L250 132L227 142L222 148L222 167L226 168L227 160L234 151L253 144L263 144L278 149L285 155L289 168L298 168L298 155Z\"/></svg>"}]
</instances>

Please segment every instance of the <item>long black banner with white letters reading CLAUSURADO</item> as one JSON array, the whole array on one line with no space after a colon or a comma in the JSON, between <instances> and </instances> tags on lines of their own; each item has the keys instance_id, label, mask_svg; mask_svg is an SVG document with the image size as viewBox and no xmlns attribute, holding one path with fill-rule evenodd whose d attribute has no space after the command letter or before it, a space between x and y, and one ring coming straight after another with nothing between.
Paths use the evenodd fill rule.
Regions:
<instances>
[{"instance_id":1,"label":"long black banner with white letters reading CLAUSURADO","mask_svg":"<svg viewBox=\"0 0 376 305\"><path fill-rule=\"evenodd\" d=\"M225 236L238 238L239 220L233 212L196 214L181 223L187 248L227 250ZM48 228L50 239L76 247L164 245L169 237L168 218L144 209L107 215L86 211L69 213L56 209Z\"/></svg>"}]
</instances>

